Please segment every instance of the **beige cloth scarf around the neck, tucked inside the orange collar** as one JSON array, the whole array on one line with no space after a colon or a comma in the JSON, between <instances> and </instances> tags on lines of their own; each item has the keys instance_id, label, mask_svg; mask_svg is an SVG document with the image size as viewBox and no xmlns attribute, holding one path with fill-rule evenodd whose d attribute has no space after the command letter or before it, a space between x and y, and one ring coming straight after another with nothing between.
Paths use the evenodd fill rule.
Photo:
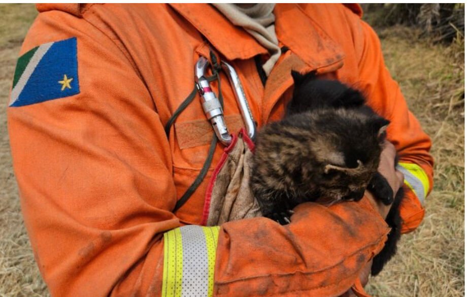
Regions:
<instances>
[{"instance_id":1,"label":"beige cloth scarf around the neck, tucked inside the orange collar","mask_svg":"<svg viewBox=\"0 0 467 297\"><path fill-rule=\"evenodd\" d=\"M269 51L271 56L262 66L266 75L269 76L281 55L274 26L276 20L273 13L275 4L260 3L249 8L230 3L213 3L212 5L232 24L243 27L261 46Z\"/></svg>"}]
</instances>

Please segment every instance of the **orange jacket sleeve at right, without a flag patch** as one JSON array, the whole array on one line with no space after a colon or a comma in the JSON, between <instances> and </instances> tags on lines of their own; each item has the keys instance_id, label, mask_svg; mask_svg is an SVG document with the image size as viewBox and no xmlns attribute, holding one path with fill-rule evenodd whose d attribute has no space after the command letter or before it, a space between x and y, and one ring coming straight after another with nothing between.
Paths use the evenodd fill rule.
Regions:
<instances>
[{"instance_id":1,"label":"orange jacket sleeve at right, without a flag patch","mask_svg":"<svg viewBox=\"0 0 467 297\"><path fill-rule=\"evenodd\" d=\"M380 41L375 31L359 21L362 44L359 59L359 84L369 104L391 121L388 138L397 149L398 170L405 176L406 198L401 205L403 232L415 229L423 219L422 203L433 186L433 158L429 154L431 140L409 111L404 96L387 70Z\"/></svg>"}]
</instances>

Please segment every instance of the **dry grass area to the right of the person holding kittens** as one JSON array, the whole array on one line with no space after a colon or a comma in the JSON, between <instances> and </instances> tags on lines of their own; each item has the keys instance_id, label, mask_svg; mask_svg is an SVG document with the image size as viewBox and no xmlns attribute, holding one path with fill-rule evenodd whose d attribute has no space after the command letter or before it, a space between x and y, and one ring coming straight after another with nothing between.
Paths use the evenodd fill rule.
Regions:
<instances>
[{"instance_id":1,"label":"dry grass area to the right of the person holding kittens","mask_svg":"<svg viewBox=\"0 0 467 297\"><path fill-rule=\"evenodd\" d=\"M463 41L414 42L411 29L378 30L386 64L433 141L435 187L426 216L403 236L396 257L370 281L375 296L464 295Z\"/></svg>"}]
</instances>

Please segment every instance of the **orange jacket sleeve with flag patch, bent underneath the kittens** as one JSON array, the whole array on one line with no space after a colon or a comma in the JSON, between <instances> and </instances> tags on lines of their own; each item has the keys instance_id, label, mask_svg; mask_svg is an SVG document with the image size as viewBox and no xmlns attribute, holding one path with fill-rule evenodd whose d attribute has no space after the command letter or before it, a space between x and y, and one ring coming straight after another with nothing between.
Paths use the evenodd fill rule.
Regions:
<instances>
[{"instance_id":1,"label":"orange jacket sleeve with flag patch, bent underneath the kittens","mask_svg":"<svg viewBox=\"0 0 467 297\"><path fill-rule=\"evenodd\" d=\"M79 93L8 108L24 221L52 296L180 295L205 277L201 266L215 269L208 295L334 296L382 248L388 228L366 199L302 205L286 227L254 218L178 228L169 143L131 59L59 11L39 15L21 54L72 37ZM198 261L199 235L217 232L202 242L214 254Z\"/></svg>"}]
</instances>

